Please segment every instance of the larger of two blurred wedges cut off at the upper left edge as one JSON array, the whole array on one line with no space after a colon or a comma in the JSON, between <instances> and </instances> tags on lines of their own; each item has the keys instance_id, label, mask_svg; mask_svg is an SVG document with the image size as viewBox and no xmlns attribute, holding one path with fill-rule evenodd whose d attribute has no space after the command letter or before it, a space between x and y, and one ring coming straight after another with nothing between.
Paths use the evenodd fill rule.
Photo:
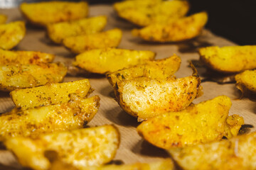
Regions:
<instances>
[{"instance_id":1,"label":"larger of two blurred wedges cut off at the upper left edge","mask_svg":"<svg viewBox=\"0 0 256 170\"><path fill-rule=\"evenodd\" d=\"M10 50L21 42L25 33L26 27L23 21L0 24L0 48Z\"/></svg>"}]
</instances>

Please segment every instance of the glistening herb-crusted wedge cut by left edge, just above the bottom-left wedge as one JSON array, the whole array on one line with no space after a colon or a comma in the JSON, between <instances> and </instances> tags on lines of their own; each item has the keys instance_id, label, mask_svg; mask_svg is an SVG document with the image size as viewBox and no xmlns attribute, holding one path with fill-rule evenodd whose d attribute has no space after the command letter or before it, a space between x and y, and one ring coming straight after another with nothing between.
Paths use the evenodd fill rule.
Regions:
<instances>
[{"instance_id":1,"label":"glistening herb-crusted wedge cut by left edge, just above the bottom-left wedge","mask_svg":"<svg viewBox=\"0 0 256 170\"><path fill-rule=\"evenodd\" d=\"M0 115L0 140L37 137L42 133L83 128L97 113L100 97L70 95L68 103L20 110Z\"/></svg>"}]
</instances>

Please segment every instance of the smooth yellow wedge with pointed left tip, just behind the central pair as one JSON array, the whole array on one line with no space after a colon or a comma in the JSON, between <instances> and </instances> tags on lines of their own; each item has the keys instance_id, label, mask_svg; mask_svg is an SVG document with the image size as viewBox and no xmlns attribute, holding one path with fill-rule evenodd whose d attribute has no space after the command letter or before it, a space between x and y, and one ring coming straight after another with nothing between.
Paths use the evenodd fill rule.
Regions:
<instances>
[{"instance_id":1,"label":"smooth yellow wedge with pointed left tip, just behind the central pair","mask_svg":"<svg viewBox=\"0 0 256 170\"><path fill-rule=\"evenodd\" d=\"M144 64L146 61L154 60L155 55L154 52L146 50L96 49L77 55L73 65L88 72L105 74L124 67Z\"/></svg>"}]
</instances>

